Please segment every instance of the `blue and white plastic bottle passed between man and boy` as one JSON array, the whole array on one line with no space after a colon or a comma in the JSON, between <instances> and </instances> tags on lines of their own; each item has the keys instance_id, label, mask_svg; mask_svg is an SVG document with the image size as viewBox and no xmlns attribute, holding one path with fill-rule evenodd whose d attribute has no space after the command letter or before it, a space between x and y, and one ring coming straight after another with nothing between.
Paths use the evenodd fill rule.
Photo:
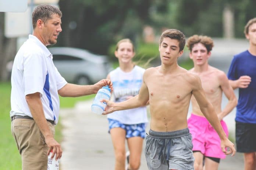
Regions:
<instances>
[{"instance_id":1,"label":"blue and white plastic bottle passed between man and boy","mask_svg":"<svg viewBox=\"0 0 256 170\"><path fill-rule=\"evenodd\" d=\"M103 113L103 111L105 110L105 107L107 106L107 103L100 102L100 100L102 99L109 100L111 96L110 91L111 90L108 86L103 86L101 89L99 89L91 106L92 112L99 115Z\"/></svg>"}]
</instances>

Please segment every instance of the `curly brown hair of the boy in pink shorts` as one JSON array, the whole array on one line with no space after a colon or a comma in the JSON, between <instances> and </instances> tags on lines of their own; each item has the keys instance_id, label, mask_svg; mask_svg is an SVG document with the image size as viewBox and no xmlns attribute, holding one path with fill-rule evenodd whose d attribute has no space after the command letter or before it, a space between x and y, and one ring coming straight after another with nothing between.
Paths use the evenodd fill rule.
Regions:
<instances>
[{"instance_id":1,"label":"curly brown hair of the boy in pink shorts","mask_svg":"<svg viewBox=\"0 0 256 170\"><path fill-rule=\"evenodd\" d=\"M213 40L210 37L199 36L199 35L193 35L189 37L186 46L189 48L190 51L192 51L192 48L194 47L194 45L198 43L203 44L206 47L207 52L210 52L214 46Z\"/></svg>"}]
</instances>

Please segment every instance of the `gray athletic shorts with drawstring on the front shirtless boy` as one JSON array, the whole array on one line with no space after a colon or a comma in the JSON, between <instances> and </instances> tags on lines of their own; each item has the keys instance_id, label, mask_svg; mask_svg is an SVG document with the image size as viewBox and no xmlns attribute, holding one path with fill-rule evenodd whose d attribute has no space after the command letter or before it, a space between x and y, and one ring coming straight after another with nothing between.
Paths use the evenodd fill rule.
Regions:
<instances>
[{"instance_id":1,"label":"gray athletic shorts with drawstring on the front shirtless boy","mask_svg":"<svg viewBox=\"0 0 256 170\"><path fill-rule=\"evenodd\" d=\"M192 136L189 129L173 132L149 130L145 155L149 170L193 170Z\"/></svg>"}]
</instances>

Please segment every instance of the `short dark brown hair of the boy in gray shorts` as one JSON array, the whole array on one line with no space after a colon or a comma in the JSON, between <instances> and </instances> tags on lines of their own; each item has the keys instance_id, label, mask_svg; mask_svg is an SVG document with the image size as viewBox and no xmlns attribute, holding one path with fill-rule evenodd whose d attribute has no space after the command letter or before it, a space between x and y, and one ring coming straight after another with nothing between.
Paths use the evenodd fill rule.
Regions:
<instances>
[{"instance_id":1,"label":"short dark brown hair of the boy in gray shorts","mask_svg":"<svg viewBox=\"0 0 256 170\"><path fill-rule=\"evenodd\" d=\"M179 51L182 51L184 49L184 46L186 44L185 35L176 29L169 29L162 33L159 41L159 45L163 42L164 37L169 37L171 39L175 39L179 41Z\"/></svg>"}]
</instances>

